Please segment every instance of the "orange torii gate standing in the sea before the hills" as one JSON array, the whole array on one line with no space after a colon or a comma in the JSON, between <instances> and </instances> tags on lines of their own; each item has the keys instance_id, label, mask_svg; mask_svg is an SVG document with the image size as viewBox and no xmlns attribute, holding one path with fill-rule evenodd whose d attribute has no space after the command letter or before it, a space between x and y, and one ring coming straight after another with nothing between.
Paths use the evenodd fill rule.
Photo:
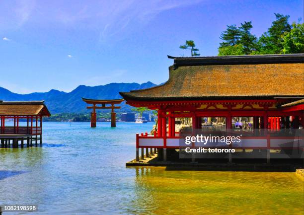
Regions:
<instances>
[{"instance_id":1,"label":"orange torii gate standing in the sea before the hills","mask_svg":"<svg viewBox=\"0 0 304 215\"><path fill-rule=\"evenodd\" d=\"M91 113L91 128L96 127L96 109L111 109L111 127L116 127L116 113L114 109L120 109L120 106L114 106L114 104L120 104L124 101L123 98L106 100L82 98L82 101L93 105L86 107L87 109L93 109ZM101 104L101 106L97 106L98 104ZM106 106L106 104L110 104L111 106Z\"/></svg>"}]
</instances>

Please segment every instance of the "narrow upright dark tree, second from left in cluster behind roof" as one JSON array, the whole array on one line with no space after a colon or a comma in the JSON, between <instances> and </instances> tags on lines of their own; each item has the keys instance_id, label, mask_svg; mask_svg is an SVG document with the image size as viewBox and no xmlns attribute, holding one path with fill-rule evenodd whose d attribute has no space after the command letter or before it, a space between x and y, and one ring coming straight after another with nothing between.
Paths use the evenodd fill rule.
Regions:
<instances>
[{"instance_id":1,"label":"narrow upright dark tree, second from left in cluster behind roof","mask_svg":"<svg viewBox=\"0 0 304 215\"><path fill-rule=\"evenodd\" d=\"M252 22L241 23L239 27L240 38L239 44L242 46L242 54L249 55L256 49L256 36L252 35L250 30L252 28Z\"/></svg>"}]
</instances>

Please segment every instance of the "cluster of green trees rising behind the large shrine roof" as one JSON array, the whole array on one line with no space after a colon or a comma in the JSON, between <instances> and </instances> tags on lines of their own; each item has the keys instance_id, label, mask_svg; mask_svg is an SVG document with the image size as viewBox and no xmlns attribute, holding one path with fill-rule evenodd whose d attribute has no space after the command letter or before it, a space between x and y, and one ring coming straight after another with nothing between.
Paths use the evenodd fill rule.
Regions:
<instances>
[{"instance_id":1,"label":"cluster of green trees rising behind the large shrine roof","mask_svg":"<svg viewBox=\"0 0 304 215\"><path fill-rule=\"evenodd\" d=\"M223 55L304 53L304 24L289 24L289 15L275 13L276 19L259 38L251 34L252 22L227 25L218 49Z\"/></svg>"}]
</instances>

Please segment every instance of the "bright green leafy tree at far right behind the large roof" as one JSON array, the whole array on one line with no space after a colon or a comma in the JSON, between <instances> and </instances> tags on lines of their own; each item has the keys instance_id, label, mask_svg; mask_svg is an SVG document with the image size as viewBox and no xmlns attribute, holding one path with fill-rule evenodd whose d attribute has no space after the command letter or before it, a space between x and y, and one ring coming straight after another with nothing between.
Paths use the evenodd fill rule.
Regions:
<instances>
[{"instance_id":1,"label":"bright green leafy tree at far right behind the large roof","mask_svg":"<svg viewBox=\"0 0 304 215\"><path fill-rule=\"evenodd\" d=\"M292 30L285 32L282 39L283 53L304 53L304 23L293 23Z\"/></svg>"}]
</instances>

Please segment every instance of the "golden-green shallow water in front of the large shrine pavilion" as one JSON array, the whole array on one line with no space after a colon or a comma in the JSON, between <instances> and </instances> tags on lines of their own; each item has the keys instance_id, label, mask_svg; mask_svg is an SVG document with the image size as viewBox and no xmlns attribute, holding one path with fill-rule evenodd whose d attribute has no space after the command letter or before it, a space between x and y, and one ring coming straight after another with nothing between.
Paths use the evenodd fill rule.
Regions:
<instances>
[{"instance_id":1,"label":"golden-green shallow water in front of the large shrine pavilion","mask_svg":"<svg viewBox=\"0 0 304 215\"><path fill-rule=\"evenodd\" d=\"M134 171L135 199L128 213L303 215L304 187L295 173Z\"/></svg>"}]
</instances>

